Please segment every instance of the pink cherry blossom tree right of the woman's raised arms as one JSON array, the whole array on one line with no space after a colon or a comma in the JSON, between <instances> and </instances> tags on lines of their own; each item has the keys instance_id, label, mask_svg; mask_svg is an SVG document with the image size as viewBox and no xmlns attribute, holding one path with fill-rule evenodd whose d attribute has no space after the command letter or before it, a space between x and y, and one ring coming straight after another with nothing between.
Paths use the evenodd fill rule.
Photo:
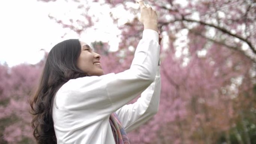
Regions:
<instances>
[{"instance_id":1,"label":"pink cherry blossom tree right of the woman's raised arms","mask_svg":"<svg viewBox=\"0 0 256 144\"><path fill-rule=\"evenodd\" d=\"M76 2L85 15L88 6L83 1ZM94 2L112 9L122 7L134 15L139 12L134 1ZM164 35L161 104L154 119L130 134L131 141L253 143L248 127L255 125L255 1L147 0L146 3L158 12L159 30ZM143 25L136 16L120 25L120 17L116 15L111 12L109 16L122 31L119 52L126 52L129 57L127 48L136 47ZM83 24L79 26L79 30L86 28ZM72 24L68 27L73 29Z\"/></svg>"}]
</instances>

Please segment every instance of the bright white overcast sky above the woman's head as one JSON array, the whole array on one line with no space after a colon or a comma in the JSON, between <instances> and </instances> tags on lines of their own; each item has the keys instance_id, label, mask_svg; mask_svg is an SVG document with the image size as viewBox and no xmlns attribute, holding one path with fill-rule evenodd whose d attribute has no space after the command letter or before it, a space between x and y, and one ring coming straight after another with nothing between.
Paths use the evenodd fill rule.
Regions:
<instances>
[{"instance_id":1,"label":"bright white overcast sky above the woman's head","mask_svg":"<svg viewBox=\"0 0 256 144\"><path fill-rule=\"evenodd\" d=\"M51 13L58 18L66 16L64 14L75 18L79 13L76 6L74 2L66 1L43 3L37 0L0 0L1 64L6 62L10 67L23 62L36 64L44 54L40 49L49 52L54 45L65 39L80 39L88 44L102 40L109 42L115 50L118 47L116 35L120 31L110 18L106 19L107 16L104 25L98 25L98 30L88 29L81 36L67 28L63 29L48 17ZM100 8L101 13L109 13L109 8ZM100 18L103 15L98 16ZM65 33L67 35L64 36Z\"/></svg>"}]
</instances>

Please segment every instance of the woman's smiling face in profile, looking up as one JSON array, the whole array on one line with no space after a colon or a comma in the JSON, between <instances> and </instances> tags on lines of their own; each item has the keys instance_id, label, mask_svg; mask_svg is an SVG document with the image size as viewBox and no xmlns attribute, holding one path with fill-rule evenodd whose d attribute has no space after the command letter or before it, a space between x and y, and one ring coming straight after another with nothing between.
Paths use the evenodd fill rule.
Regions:
<instances>
[{"instance_id":1,"label":"woman's smiling face in profile, looking up","mask_svg":"<svg viewBox=\"0 0 256 144\"><path fill-rule=\"evenodd\" d=\"M90 46L85 42L80 42L80 44L81 53L77 60L77 67L90 76L103 75L104 72L100 64L101 56L98 53L93 52Z\"/></svg>"}]
</instances>

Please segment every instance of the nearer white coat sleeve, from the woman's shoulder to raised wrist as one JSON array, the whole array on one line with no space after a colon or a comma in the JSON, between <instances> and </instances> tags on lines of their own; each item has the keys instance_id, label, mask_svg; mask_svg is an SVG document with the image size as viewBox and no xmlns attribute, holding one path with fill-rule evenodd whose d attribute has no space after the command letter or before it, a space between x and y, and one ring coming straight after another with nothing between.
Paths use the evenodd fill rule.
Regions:
<instances>
[{"instance_id":1,"label":"nearer white coat sleeve, from the woman's shoulder to raised wrist","mask_svg":"<svg viewBox=\"0 0 256 144\"><path fill-rule=\"evenodd\" d=\"M79 119L93 121L109 116L154 81L159 47L158 33L144 30L128 70L69 80L56 94L57 107L72 111L70 114L75 113Z\"/></svg>"}]
</instances>

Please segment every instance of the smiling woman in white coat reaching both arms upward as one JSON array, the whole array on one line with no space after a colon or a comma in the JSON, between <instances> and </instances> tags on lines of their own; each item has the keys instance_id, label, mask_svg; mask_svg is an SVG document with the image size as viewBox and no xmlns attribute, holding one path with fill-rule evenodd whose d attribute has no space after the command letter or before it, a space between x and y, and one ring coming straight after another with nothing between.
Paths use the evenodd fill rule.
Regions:
<instances>
[{"instance_id":1,"label":"smiling woman in white coat reaching both arms upward","mask_svg":"<svg viewBox=\"0 0 256 144\"><path fill-rule=\"evenodd\" d=\"M126 132L157 112L157 15L138 3L144 31L129 70L104 75L100 55L79 40L65 40L49 52L31 101L37 143L129 144ZM126 105L139 94L137 102Z\"/></svg>"}]
</instances>

